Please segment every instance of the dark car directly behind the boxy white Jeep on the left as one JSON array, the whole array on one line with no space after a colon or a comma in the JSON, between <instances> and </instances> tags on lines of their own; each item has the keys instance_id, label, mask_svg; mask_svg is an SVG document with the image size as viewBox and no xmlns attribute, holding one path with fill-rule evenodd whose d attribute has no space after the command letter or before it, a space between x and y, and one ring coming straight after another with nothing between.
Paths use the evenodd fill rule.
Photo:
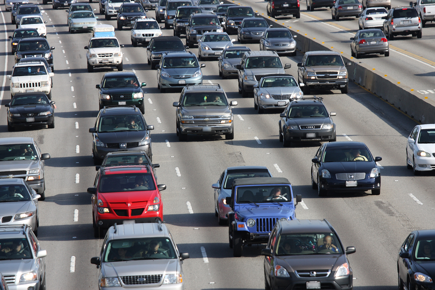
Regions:
<instances>
[{"instance_id":1,"label":"dark car directly behind the boxy white Jeep on the left","mask_svg":"<svg viewBox=\"0 0 435 290\"><path fill-rule=\"evenodd\" d=\"M53 50L55 47L50 47L47 39L43 37L28 37L21 38L17 44L15 51L15 63L27 57L44 57L51 67L51 72L54 72Z\"/></svg>"}]
</instances>

